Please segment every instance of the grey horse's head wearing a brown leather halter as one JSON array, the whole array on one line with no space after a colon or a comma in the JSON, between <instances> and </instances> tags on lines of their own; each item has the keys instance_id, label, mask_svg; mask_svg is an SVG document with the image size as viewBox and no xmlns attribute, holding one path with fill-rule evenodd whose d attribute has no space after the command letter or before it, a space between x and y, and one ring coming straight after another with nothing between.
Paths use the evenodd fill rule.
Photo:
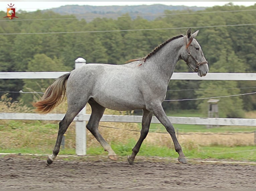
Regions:
<instances>
[{"instance_id":1,"label":"grey horse's head wearing a brown leather halter","mask_svg":"<svg viewBox=\"0 0 256 191\"><path fill-rule=\"evenodd\" d=\"M187 30L180 56L193 72L197 72L198 76L203 77L207 75L209 68L200 45L194 39L198 32L191 34L190 28Z\"/></svg>"}]
</instances>

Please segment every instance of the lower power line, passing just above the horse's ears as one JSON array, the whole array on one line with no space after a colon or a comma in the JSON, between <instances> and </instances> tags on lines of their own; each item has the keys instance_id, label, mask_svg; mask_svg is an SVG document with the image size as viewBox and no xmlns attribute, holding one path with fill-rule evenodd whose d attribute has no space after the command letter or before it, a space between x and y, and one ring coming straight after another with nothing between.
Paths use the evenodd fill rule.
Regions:
<instances>
[{"instance_id":1,"label":"lower power line, passing just above the horse's ears","mask_svg":"<svg viewBox=\"0 0 256 191\"><path fill-rule=\"evenodd\" d=\"M237 27L237 26L252 26L252 24L237 24L237 25L214 25L201 27L174 27L174 28L158 28L158 29L127 29L127 30L107 30L107 31L77 31L77 32L46 32L46 33L0 33L0 35L36 35L36 34L68 34L68 33L106 33L106 32L127 32L127 31L153 31L153 30L173 30L173 29L187 29L187 28L211 28L211 27Z\"/></svg>"}]
</instances>

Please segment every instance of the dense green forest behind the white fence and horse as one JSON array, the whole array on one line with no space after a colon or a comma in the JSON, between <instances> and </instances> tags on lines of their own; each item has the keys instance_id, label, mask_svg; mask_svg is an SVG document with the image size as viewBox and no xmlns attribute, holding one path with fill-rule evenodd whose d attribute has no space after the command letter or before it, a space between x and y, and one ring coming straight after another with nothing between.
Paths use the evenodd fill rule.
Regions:
<instances>
[{"instance_id":1,"label":"dense green forest behind the white fence and horse","mask_svg":"<svg viewBox=\"0 0 256 191\"><path fill-rule=\"evenodd\" d=\"M256 4L250 7L214 6L202 11L169 11L154 20L94 18L88 22L74 15L52 11L18 12L10 20L0 12L0 72L71 71L75 60L87 63L125 64L142 58L167 39L191 28L200 30L197 41L208 61L209 73L256 72ZM191 72L179 61L174 72ZM33 94L44 92L54 79L3 80L0 95L10 92L13 101L30 105ZM166 99L189 99L255 92L255 81L171 80ZM243 117L256 110L256 96L219 98L220 117ZM207 99L164 101L168 110L198 109L207 113Z\"/></svg>"}]
</instances>

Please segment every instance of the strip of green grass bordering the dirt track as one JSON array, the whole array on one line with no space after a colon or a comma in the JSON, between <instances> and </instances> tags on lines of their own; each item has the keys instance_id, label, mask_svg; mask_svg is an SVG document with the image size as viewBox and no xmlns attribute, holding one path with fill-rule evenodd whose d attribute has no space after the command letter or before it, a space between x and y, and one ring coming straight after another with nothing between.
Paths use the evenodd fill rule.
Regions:
<instances>
[{"instance_id":1,"label":"strip of green grass bordering the dirt track","mask_svg":"<svg viewBox=\"0 0 256 191\"><path fill-rule=\"evenodd\" d=\"M111 147L118 156L127 156L132 153L132 148L136 144L134 139L129 140L128 143L111 143ZM256 147L255 146L207 146L200 147L194 145L192 142L183 146L183 152L188 159L226 159L226 160L246 160L256 162ZM30 153L30 154L51 154L51 149L40 150L34 148L20 148L20 149L1 149L2 153ZM75 149L60 149L59 155L75 155ZM87 147L88 155L107 155L107 152L101 146ZM143 143L138 156L158 156L177 158L178 154L174 148L160 147L152 144Z\"/></svg>"}]
</instances>

